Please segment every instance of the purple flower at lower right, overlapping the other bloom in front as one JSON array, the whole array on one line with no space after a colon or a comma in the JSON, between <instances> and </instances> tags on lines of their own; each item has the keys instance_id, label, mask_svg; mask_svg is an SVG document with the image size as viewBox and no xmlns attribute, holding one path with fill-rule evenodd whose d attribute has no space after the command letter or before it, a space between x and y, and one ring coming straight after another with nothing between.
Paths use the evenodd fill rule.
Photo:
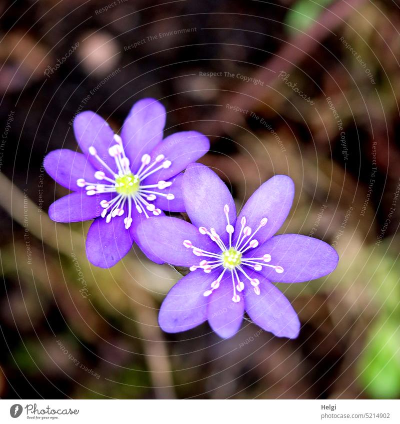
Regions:
<instances>
[{"instance_id":1,"label":"purple flower at lower right, overlapping the other bloom in front","mask_svg":"<svg viewBox=\"0 0 400 424\"><path fill-rule=\"evenodd\" d=\"M225 184L207 167L191 164L182 182L192 224L162 217L140 224L137 237L159 261L190 267L164 299L159 324L166 332L208 320L221 337L239 329L243 313L279 337L295 338L300 322L271 283L295 283L333 271L338 256L323 241L297 234L273 236L286 219L294 184L285 175L263 183L236 219Z\"/></svg>"}]
</instances>

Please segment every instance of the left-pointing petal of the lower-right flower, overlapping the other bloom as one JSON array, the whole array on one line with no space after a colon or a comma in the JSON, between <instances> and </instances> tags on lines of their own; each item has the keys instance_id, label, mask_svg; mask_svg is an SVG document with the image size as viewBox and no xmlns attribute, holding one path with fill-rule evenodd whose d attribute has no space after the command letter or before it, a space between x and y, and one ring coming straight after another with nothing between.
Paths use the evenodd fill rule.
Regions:
<instances>
[{"instance_id":1,"label":"left-pointing petal of the lower-right flower, overlapping the other bloom","mask_svg":"<svg viewBox=\"0 0 400 424\"><path fill-rule=\"evenodd\" d=\"M200 234L192 224L168 216L143 220L137 227L135 240L143 247L144 253L151 253L161 263L177 266L191 266L203 259L194 255L192 249L184 247L184 240L211 252L217 249L216 244L208 236Z\"/></svg>"}]
</instances>

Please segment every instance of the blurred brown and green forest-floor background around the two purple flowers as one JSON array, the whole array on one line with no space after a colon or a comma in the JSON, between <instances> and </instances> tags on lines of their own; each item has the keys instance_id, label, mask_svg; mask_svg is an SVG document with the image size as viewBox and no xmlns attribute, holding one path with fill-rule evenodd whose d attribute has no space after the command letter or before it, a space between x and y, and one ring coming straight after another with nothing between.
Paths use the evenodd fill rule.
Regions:
<instances>
[{"instance_id":1,"label":"blurred brown and green forest-floor background around the two purple flowers","mask_svg":"<svg viewBox=\"0 0 400 424\"><path fill-rule=\"evenodd\" d=\"M2 398L399 396L398 2L3 1L0 16ZM117 131L143 97L165 105L166 135L210 138L201 161L238 207L274 174L294 180L281 231L340 255L280 285L298 339L248 321L229 340L165 334L173 269L138 249L95 268L89 222L48 219L66 191L41 163L76 149L73 117Z\"/></svg>"}]
</instances>

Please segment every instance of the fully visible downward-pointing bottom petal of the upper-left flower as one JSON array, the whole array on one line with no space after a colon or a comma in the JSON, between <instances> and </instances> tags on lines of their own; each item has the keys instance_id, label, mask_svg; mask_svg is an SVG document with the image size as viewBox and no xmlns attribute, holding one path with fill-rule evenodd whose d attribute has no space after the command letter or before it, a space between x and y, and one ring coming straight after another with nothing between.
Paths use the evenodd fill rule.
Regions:
<instances>
[{"instance_id":1,"label":"fully visible downward-pointing bottom petal of the upper-left flower","mask_svg":"<svg viewBox=\"0 0 400 424\"><path fill-rule=\"evenodd\" d=\"M87 259L100 268L110 268L130 250L133 239L123 222L125 215L112 218L97 218L91 224L86 238Z\"/></svg>"}]
</instances>

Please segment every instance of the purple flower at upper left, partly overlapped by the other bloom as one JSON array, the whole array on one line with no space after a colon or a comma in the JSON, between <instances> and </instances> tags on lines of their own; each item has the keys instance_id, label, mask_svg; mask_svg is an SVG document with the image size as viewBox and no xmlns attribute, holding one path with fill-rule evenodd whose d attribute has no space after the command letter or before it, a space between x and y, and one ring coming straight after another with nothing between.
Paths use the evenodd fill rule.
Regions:
<instances>
[{"instance_id":1,"label":"purple flower at upper left, partly overlapped by the other bloom","mask_svg":"<svg viewBox=\"0 0 400 424\"><path fill-rule=\"evenodd\" d=\"M73 193L50 205L49 217L57 222L93 219L86 253L96 266L117 263L137 240L137 226L162 210L184 211L181 193L183 171L209 149L208 139L195 131L162 139L165 109L154 99L135 103L120 136L98 115L76 116L73 130L82 153L55 150L44 158L47 173Z\"/></svg>"}]
</instances>

